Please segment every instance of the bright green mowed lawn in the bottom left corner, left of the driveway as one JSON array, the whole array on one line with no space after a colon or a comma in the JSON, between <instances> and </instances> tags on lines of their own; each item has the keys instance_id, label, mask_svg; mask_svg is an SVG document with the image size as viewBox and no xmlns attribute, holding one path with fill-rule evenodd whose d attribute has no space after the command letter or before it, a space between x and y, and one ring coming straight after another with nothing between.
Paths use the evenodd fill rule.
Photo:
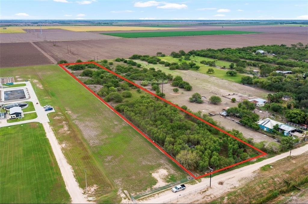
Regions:
<instances>
[{"instance_id":1,"label":"bright green mowed lawn in the bottom left corner, left of the driveway","mask_svg":"<svg viewBox=\"0 0 308 204\"><path fill-rule=\"evenodd\" d=\"M40 123L1 127L0 203L69 203Z\"/></svg>"}]
</instances>

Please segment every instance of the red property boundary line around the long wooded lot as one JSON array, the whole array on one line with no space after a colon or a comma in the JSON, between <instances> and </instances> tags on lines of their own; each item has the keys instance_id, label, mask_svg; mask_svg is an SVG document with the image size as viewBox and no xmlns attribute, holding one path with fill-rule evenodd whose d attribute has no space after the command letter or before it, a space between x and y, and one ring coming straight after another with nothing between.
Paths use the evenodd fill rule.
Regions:
<instances>
[{"instance_id":1,"label":"red property boundary line around the long wooded lot","mask_svg":"<svg viewBox=\"0 0 308 204\"><path fill-rule=\"evenodd\" d=\"M87 87L83 82L81 82L74 74L72 74L70 71L68 71L64 66L66 65L75 65L75 64L95 64L96 66L99 66L100 68L102 68L103 70L106 70L107 72L111 73L111 74L114 74L115 76L123 79L124 81L134 85L134 86L137 86L138 88L144 90L145 92L147 92L148 94L151 94L153 96L155 96L156 98L159 98L160 100L170 104L171 106L174 106L176 107L177 109L183 111L184 113L188 114L188 115L191 115L192 117L194 118L197 118L198 120L204 122L205 124L209 125L209 126L212 126L213 128L219 130L220 132L244 143L245 145L253 148L254 150L257 150L258 152L260 152L261 154L256 156L256 157L253 157L253 158L249 158L249 159L246 159L244 161L241 161L241 162L237 162L235 164L232 164L230 166L226 166L224 168L221 168L221 169L218 169L218 170L215 170L213 172L210 172L210 173L207 173L207 174L203 174L201 176L198 176L196 177L193 173L191 173L189 170L187 170L184 166L182 166L178 161L176 161L170 154L168 154L162 147L160 147L159 145L157 145L151 138L149 138L146 134L144 134L139 128L137 128L134 124L132 124L128 119L126 119L122 114L120 114L118 111L116 111L112 106L110 106L106 101L104 101L102 98L99 97L99 95L97 95L93 90L91 90L89 87ZM115 114L119 115L125 122L127 122L130 126L132 126L137 132L139 132L142 136L144 136L149 142L151 142L154 146L156 146L160 151L162 151L166 156L168 156L173 162L175 162L178 166L180 166L184 171L186 171L189 175L191 175L193 178L195 179L198 179L198 178L202 178L202 177L205 177L205 176L208 176L210 174L214 174L214 173L217 173L219 171L222 171L222 170L225 170L225 169L229 169L233 166L237 166L239 164L242 164L242 163L245 163L245 162L248 162L250 160L253 160L253 159L256 159L256 158L259 158L259 157L263 157L265 155L267 155L265 152L259 150L258 148L248 144L247 142L235 137L234 135L226 132L225 130L222 130L220 129L219 127L217 126L214 126L213 124L203 120L202 118L199 118L198 116L188 112L187 110L184 110L183 108L179 107L179 106L176 106L175 104L173 104L172 102L164 99L164 98L161 98L160 96L152 93L151 91L149 90L146 90L145 88L143 88L142 86L139 86L138 84L135 84L134 82L131 82L129 81L127 78L124 78L123 76L119 75L119 74L116 74L115 72L111 71L111 70L108 70L106 67L104 66L101 66L100 64L96 63L96 62L75 62L75 63L64 63L64 64L59 64L59 66L64 70L66 71L69 75L71 75L71 77L73 77L77 82L79 82L83 87L85 87L87 90L89 90L94 96L96 96L96 98L98 98L101 102L103 102L108 108L110 108L113 112L115 112Z\"/></svg>"}]
</instances>

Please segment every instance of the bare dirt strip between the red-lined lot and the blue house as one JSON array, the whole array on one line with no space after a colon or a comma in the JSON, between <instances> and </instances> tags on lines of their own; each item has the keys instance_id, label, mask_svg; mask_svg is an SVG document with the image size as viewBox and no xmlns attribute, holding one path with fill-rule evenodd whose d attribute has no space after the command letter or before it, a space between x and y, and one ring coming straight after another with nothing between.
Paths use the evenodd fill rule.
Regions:
<instances>
[{"instance_id":1,"label":"bare dirt strip between the red-lined lot and the blue house","mask_svg":"<svg viewBox=\"0 0 308 204\"><path fill-rule=\"evenodd\" d=\"M243 136L245 138L253 138L254 142L261 142L261 141L275 142L273 138L264 136L264 134L246 128L241 124L237 124L235 120L234 121L232 120L231 117L225 118L221 115L215 115L213 116L213 119L218 122L219 126L225 127L227 130L232 130L232 129L239 130L241 133L243 133Z\"/></svg>"}]
</instances>

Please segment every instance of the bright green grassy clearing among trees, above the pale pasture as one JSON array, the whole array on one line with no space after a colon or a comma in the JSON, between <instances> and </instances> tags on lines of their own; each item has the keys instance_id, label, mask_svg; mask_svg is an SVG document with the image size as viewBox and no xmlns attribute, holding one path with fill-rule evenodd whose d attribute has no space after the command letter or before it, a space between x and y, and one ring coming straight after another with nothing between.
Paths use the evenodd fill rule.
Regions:
<instances>
[{"instance_id":1,"label":"bright green grassy clearing among trees, above the pale pasture","mask_svg":"<svg viewBox=\"0 0 308 204\"><path fill-rule=\"evenodd\" d=\"M166 61L166 62L180 62L179 61L179 58L172 58L171 56L165 56L165 57L159 57L161 60L164 60L164 61ZM240 83L241 82L241 78L242 78L242 76L245 76L244 74L239 74L239 73L237 73L237 75L235 75L235 76L229 76L229 75L227 75L226 74L226 72L228 71L228 69L226 69L226 70L223 70L223 69L218 69L218 68L215 68L215 67L210 67L210 66L205 66L204 64L201 64L200 63L200 61L202 61L202 60L211 60L211 61L213 61L214 59L211 59L211 58L204 58L204 57L194 57L194 58L192 58L193 60L196 60L197 62L195 62L198 66L200 66L200 69L199 70L194 70L194 71L197 71L197 72L200 72L200 73L202 73L202 74L208 74L208 73L206 73L207 72L207 70L209 69L209 68L213 68L214 69L214 73L213 74L208 74L208 75L211 75L211 76L214 76L214 77L217 77L217 78L221 78L221 79L225 79L225 80L228 80L228 81L232 81L232 82L236 82L236 83ZM190 60L184 60L184 59L182 59L182 61L181 62L187 62L187 63L189 63L190 62ZM146 62L147 63L147 62ZM218 65L218 63L220 63L220 65ZM148 64L148 63L147 63ZM223 66L226 66L226 67L229 67L229 62L226 62L226 61L218 61L217 62L217 65L218 66L221 66L221 65L223 65ZM228 66L227 66L228 65ZM154 65L152 65L152 64L149 64L149 66L150 67L154 67L155 68L155 66ZM160 66L160 67L164 67L164 66L162 66L162 65L158 65L158 66ZM168 67L166 67L166 69L169 69ZM171 72L166 72L167 74L171 74L172 73L172 70L170 70Z\"/></svg>"}]
</instances>

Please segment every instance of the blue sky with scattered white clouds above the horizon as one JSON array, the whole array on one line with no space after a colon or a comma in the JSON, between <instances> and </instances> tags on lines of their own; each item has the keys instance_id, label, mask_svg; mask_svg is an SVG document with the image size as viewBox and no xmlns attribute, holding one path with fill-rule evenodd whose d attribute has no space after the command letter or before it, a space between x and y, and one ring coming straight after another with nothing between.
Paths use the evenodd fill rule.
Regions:
<instances>
[{"instance_id":1,"label":"blue sky with scattered white clouds above the horizon","mask_svg":"<svg viewBox=\"0 0 308 204\"><path fill-rule=\"evenodd\" d=\"M308 0L1 0L0 19L308 20Z\"/></svg>"}]
</instances>

